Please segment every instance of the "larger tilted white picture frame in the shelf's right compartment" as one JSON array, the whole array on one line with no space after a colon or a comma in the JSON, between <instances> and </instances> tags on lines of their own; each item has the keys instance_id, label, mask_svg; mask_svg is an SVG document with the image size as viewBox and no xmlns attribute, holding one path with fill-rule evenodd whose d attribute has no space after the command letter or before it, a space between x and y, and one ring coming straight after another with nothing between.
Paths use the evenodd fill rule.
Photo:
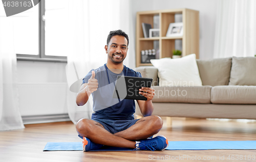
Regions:
<instances>
[{"instance_id":1,"label":"larger tilted white picture frame in the shelf's right compartment","mask_svg":"<svg viewBox=\"0 0 256 162\"><path fill-rule=\"evenodd\" d=\"M183 22L170 23L166 37L178 37L183 36Z\"/></svg>"}]
</instances>

